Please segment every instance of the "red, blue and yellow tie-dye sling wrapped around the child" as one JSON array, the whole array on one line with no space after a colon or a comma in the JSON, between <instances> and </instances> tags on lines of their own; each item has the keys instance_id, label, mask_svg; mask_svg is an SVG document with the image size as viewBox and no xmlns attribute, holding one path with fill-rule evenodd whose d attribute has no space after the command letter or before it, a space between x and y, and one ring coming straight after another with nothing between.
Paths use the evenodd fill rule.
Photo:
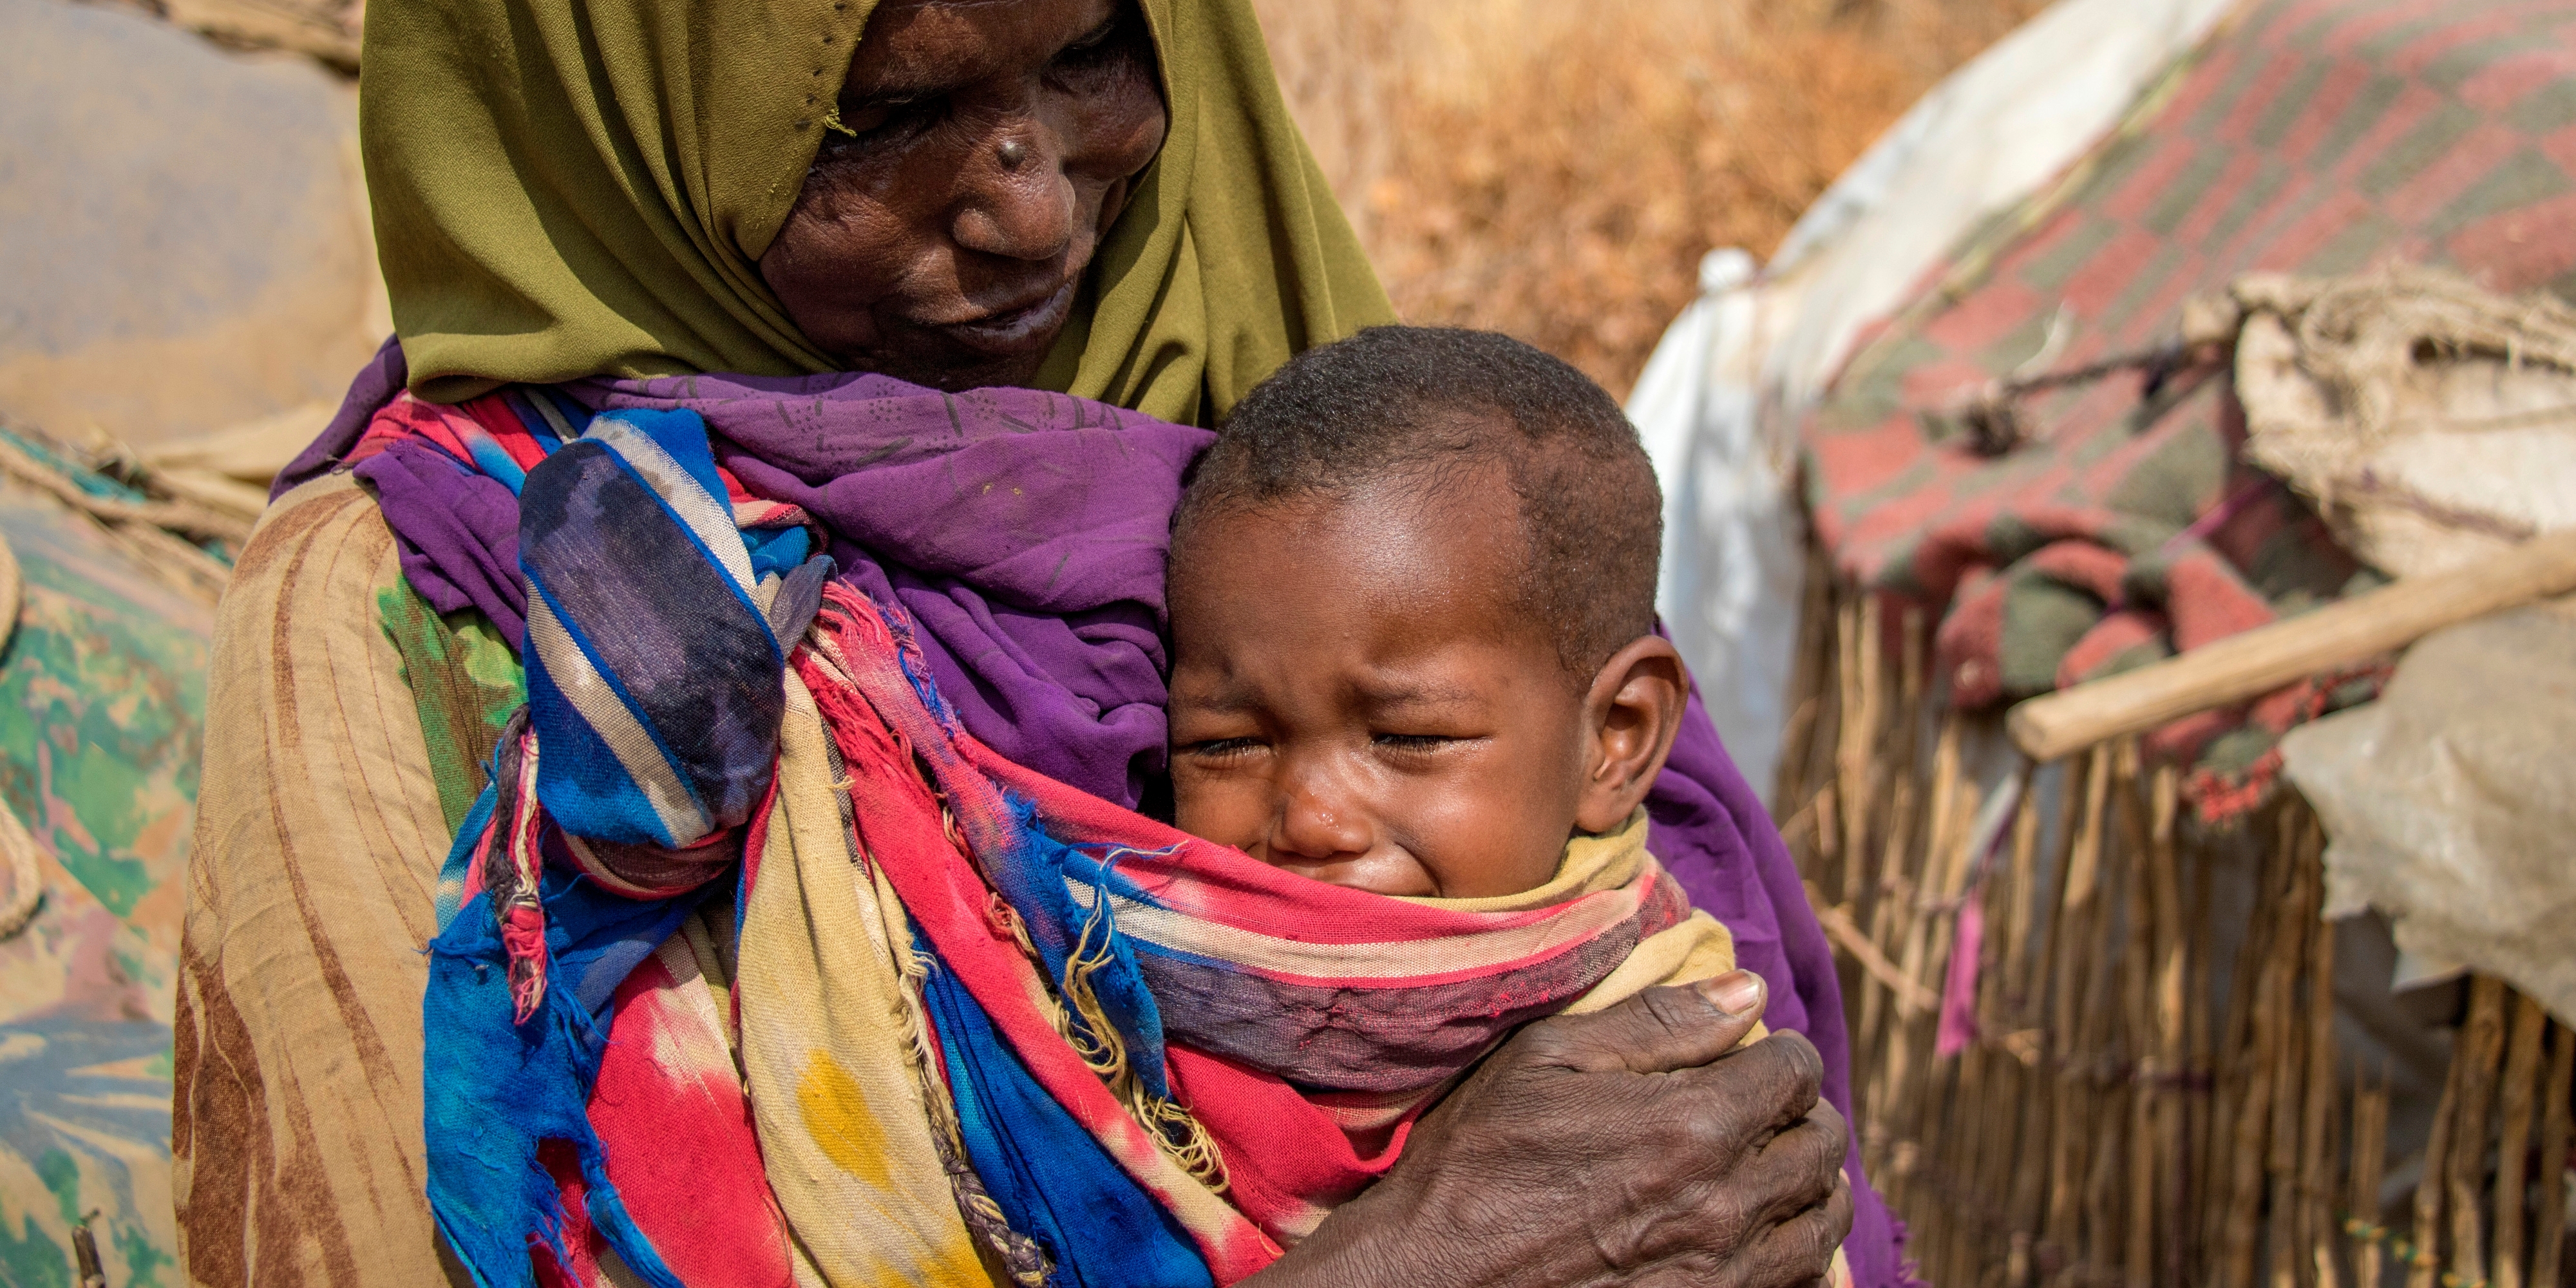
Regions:
<instances>
[{"instance_id":1,"label":"red, blue and yellow tie-dye sling wrapped around the child","mask_svg":"<svg viewBox=\"0 0 2576 1288\"><path fill-rule=\"evenodd\" d=\"M1515 1025L1731 966L1643 814L1386 899L1012 765L696 412L482 402L353 451L518 497L528 706L422 1007L479 1283L1234 1283Z\"/></svg>"}]
</instances>

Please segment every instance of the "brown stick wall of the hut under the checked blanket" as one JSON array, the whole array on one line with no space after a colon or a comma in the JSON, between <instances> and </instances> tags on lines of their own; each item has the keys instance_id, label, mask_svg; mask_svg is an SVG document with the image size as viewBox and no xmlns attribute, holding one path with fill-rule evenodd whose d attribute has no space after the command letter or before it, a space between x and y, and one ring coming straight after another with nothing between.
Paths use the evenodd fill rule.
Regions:
<instances>
[{"instance_id":1,"label":"brown stick wall of the hut under the checked blanket","mask_svg":"<svg viewBox=\"0 0 2576 1288\"><path fill-rule=\"evenodd\" d=\"M1924 616L1821 559L1808 587L1775 809L1844 966L1862 1159L1922 1278L2576 1283L2576 1033L2476 979L2424 1180L2385 1203L2411 1159L2388 1157L2383 1077L2336 1056L2308 806L2282 791L2233 842L2202 835L2133 739L2022 762L1989 801L1965 760L1999 721L1942 714ZM2244 917L2213 907L2221 866L2241 884L2249 850L2249 925L2221 925Z\"/></svg>"}]
</instances>

